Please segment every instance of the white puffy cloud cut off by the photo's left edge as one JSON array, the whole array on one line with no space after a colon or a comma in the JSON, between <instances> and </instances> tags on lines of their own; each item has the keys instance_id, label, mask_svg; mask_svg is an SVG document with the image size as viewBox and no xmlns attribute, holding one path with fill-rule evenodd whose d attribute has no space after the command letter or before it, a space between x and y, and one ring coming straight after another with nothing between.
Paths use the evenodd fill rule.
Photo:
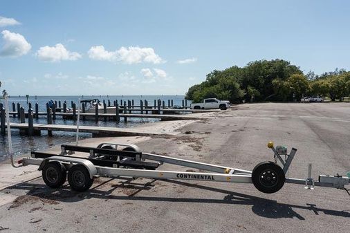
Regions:
<instances>
[{"instance_id":1,"label":"white puffy cloud cut off by the photo's left edge","mask_svg":"<svg viewBox=\"0 0 350 233\"><path fill-rule=\"evenodd\" d=\"M3 48L0 50L0 56L20 57L26 55L32 46L26 41L23 35L3 30Z\"/></svg>"}]
</instances>

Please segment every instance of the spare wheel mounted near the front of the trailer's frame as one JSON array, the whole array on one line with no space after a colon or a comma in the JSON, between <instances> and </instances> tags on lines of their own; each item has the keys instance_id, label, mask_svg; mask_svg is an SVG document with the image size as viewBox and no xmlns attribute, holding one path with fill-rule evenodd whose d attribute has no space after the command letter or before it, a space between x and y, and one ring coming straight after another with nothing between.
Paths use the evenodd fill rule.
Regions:
<instances>
[{"instance_id":1,"label":"spare wheel mounted near the front of the trailer's frame","mask_svg":"<svg viewBox=\"0 0 350 233\"><path fill-rule=\"evenodd\" d=\"M275 162L260 162L252 170L252 183L260 191L273 194L284 185L286 176L284 171Z\"/></svg>"}]
</instances>

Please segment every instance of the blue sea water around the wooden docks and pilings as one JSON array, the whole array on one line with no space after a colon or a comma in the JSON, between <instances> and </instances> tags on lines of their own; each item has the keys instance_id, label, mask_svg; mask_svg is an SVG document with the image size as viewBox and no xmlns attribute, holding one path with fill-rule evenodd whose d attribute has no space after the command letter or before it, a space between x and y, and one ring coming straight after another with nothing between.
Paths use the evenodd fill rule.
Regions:
<instances>
[{"instance_id":1,"label":"blue sea water around the wooden docks and pilings","mask_svg":"<svg viewBox=\"0 0 350 233\"><path fill-rule=\"evenodd\" d=\"M79 99L91 99L91 98L98 98L99 100L103 101L105 100L106 103L108 100L111 101L111 104L113 104L114 100L118 100L118 104L120 104L120 100L122 102L127 100L134 100L135 105L140 104L140 100L147 100L149 102L149 106L154 105L154 100L162 100L165 101L165 105L167 106L168 100L173 100L174 105L182 106L182 100L184 98L183 95L109 95L109 96L100 96L100 95L94 95L94 96L30 96L28 98L28 102L32 103L32 108L34 108L35 103L39 104L39 111L46 111L46 103L49 100L53 101L61 101L62 104L64 101L67 102L67 107L71 107L71 101L75 102L77 104ZM3 102L3 100L0 100L0 102ZM28 111L28 104L26 97L18 97L13 96L9 97L9 107L10 111L12 111L12 102L16 104L21 104L21 106L24 107L25 111ZM187 105L190 104L190 101L187 102ZM16 109L17 110L17 109ZM11 122L19 122L19 118L12 118L10 117ZM147 122L155 122L158 121L156 119L147 119L147 118L128 118L128 122L125 123L123 121L117 123L113 121L106 121L100 120L99 122L95 122L94 120L85 120L83 121L80 119L81 125L89 125L89 126L100 126L100 127L136 127L140 124L145 124ZM26 122L28 122L28 119L26 119ZM46 124L46 117L45 116L39 116L39 119L34 119L34 124ZM57 116L56 120L53 120L53 124L71 124L75 125L75 120L62 120L62 117ZM12 133L12 147L15 156L19 156L23 153L29 153L30 151L37 151L41 149L46 149L48 147L53 147L54 145L61 145L64 143L74 142L75 141L75 133L73 132L56 132L53 131L53 136L48 137L47 131L42 131L42 136L21 136L19 135L18 129L11 130ZM90 138L91 133L80 133L80 139L83 138ZM0 136L0 161L8 159L8 138L7 136Z\"/></svg>"}]
</instances>

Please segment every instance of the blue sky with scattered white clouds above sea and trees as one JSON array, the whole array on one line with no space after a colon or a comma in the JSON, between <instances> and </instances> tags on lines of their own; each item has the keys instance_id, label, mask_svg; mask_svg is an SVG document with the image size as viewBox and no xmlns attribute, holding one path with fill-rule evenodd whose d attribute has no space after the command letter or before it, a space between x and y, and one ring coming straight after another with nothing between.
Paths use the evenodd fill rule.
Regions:
<instances>
[{"instance_id":1,"label":"blue sky with scattered white clouds above sea and trees","mask_svg":"<svg viewBox=\"0 0 350 233\"><path fill-rule=\"evenodd\" d=\"M9 95L183 95L261 59L350 69L350 1L0 0Z\"/></svg>"}]
</instances>

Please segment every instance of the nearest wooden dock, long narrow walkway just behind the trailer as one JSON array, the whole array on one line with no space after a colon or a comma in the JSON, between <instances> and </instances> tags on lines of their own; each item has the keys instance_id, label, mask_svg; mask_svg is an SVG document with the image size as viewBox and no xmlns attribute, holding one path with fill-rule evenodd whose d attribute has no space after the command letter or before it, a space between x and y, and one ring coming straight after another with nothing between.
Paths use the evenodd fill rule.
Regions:
<instances>
[{"instance_id":1,"label":"nearest wooden dock, long narrow walkway just behind the trailer","mask_svg":"<svg viewBox=\"0 0 350 233\"><path fill-rule=\"evenodd\" d=\"M28 131L26 123L10 123L11 129L19 129L20 131ZM40 131L63 131L76 132L76 125L66 124L33 124L34 131L39 134ZM117 127L89 127L79 126L80 133L92 133L94 138L105 136L152 136L161 133L142 131L142 129L133 128L117 128Z\"/></svg>"}]
</instances>

